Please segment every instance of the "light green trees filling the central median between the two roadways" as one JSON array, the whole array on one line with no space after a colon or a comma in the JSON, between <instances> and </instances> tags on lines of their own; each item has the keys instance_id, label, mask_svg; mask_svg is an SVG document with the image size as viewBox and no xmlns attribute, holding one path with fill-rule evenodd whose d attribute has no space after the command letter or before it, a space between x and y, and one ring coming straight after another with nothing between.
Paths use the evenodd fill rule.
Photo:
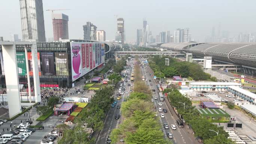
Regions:
<instances>
[{"instance_id":1,"label":"light green trees filling the central median between the two roadways","mask_svg":"<svg viewBox=\"0 0 256 144\"><path fill-rule=\"evenodd\" d=\"M151 95L145 93L149 89L144 82L138 82L141 81L140 76L136 62L134 92L122 103L121 112L125 121L111 132L112 142L124 140L125 144L171 144L164 139L159 118L155 116L155 107L150 102Z\"/></svg>"}]
</instances>

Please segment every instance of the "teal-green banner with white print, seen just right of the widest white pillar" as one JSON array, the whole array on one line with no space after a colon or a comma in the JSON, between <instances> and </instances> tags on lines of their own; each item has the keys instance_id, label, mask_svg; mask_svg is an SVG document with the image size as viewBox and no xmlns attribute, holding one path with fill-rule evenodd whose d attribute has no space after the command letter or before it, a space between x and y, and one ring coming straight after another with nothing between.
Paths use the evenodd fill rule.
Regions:
<instances>
[{"instance_id":1,"label":"teal-green banner with white print, seen just right of the widest white pillar","mask_svg":"<svg viewBox=\"0 0 256 144\"><path fill-rule=\"evenodd\" d=\"M25 52L16 52L18 75L27 75Z\"/></svg>"}]
</instances>

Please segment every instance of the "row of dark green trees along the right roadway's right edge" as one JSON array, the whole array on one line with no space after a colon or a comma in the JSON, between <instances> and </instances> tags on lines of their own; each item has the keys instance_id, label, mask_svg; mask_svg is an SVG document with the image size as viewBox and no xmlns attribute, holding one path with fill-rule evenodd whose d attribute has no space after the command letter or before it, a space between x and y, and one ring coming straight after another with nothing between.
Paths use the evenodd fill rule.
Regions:
<instances>
[{"instance_id":1,"label":"row of dark green trees along the right roadway's right edge","mask_svg":"<svg viewBox=\"0 0 256 144\"><path fill-rule=\"evenodd\" d=\"M233 144L233 142L228 139L228 133L223 130L222 126L218 127L209 122L206 117L202 116L205 115L204 109L200 109L201 113L204 113L200 114L199 111L192 106L192 101L180 94L176 88L165 89L165 91L168 91L168 101L170 101L171 105L183 117L185 122L191 126L195 132L195 137L201 138L204 144ZM185 103L185 110L184 105L179 102ZM208 115L214 114L211 114L209 111ZM216 136L216 133L209 131L209 129L219 131L219 136Z\"/></svg>"}]
</instances>

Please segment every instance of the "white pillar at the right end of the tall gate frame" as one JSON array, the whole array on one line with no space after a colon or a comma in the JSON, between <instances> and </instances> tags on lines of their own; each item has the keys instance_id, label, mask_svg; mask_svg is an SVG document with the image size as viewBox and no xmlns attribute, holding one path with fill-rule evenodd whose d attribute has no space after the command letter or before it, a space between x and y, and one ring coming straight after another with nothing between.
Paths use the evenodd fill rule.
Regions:
<instances>
[{"instance_id":1,"label":"white pillar at the right end of the tall gate frame","mask_svg":"<svg viewBox=\"0 0 256 144\"><path fill-rule=\"evenodd\" d=\"M31 45L31 55L32 55L31 57L32 57L32 67L33 67L35 101L36 102L41 102L40 80L39 80L39 70L38 70L37 46L36 46L36 44Z\"/></svg>"}]
</instances>

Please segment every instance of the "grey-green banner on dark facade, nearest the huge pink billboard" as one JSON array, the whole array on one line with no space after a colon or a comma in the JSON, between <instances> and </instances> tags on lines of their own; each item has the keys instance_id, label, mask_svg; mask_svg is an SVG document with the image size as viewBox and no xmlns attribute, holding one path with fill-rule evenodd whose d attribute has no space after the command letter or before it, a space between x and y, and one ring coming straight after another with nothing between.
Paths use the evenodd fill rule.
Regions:
<instances>
[{"instance_id":1,"label":"grey-green banner on dark facade, nearest the huge pink billboard","mask_svg":"<svg viewBox=\"0 0 256 144\"><path fill-rule=\"evenodd\" d=\"M55 52L55 64L57 76L68 76L67 53Z\"/></svg>"}]
</instances>

